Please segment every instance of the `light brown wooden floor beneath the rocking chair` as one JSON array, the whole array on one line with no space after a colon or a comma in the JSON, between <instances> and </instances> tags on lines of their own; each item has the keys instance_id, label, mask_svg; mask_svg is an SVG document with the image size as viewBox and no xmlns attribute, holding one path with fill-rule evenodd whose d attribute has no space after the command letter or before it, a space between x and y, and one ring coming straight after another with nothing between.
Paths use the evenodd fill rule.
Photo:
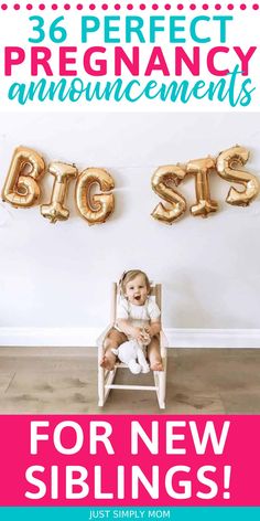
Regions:
<instances>
[{"instance_id":1,"label":"light brown wooden floor beneath the rocking chair","mask_svg":"<svg viewBox=\"0 0 260 521\"><path fill-rule=\"evenodd\" d=\"M151 381L151 373L122 383ZM112 391L97 406L94 348L0 348L0 414L260 414L260 349L170 349L166 410L155 393Z\"/></svg>"}]
</instances>

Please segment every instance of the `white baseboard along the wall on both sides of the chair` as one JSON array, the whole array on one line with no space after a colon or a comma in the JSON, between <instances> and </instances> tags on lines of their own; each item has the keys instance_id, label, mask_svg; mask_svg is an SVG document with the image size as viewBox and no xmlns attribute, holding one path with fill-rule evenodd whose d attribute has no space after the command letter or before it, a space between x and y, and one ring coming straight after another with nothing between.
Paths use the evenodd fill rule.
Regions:
<instances>
[{"instance_id":1,"label":"white baseboard along the wall on both sides of the chair","mask_svg":"<svg viewBox=\"0 0 260 521\"><path fill-rule=\"evenodd\" d=\"M0 347L95 347L99 328L0 328ZM260 329L165 328L170 348L260 348Z\"/></svg>"}]
</instances>

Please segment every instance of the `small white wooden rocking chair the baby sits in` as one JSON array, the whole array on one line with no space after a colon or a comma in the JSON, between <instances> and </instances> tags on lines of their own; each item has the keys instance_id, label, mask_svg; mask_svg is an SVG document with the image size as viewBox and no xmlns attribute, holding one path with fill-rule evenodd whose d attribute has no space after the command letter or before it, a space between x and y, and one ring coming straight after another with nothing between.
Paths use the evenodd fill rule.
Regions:
<instances>
[{"instance_id":1,"label":"small white wooden rocking chair the baby sits in","mask_svg":"<svg viewBox=\"0 0 260 521\"><path fill-rule=\"evenodd\" d=\"M155 302L162 312L161 307L161 284L155 284L151 287L151 296L155 297ZM122 362L117 362L112 371L108 371L100 366L100 361L105 353L105 339L115 326L117 319L117 299L118 299L119 288L116 283L112 283L112 301L111 301L111 322L102 332L102 334L97 340L98 345L98 405L104 407L107 397L111 389L120 390L134 390L134 391L155 391L158 397L158 404L160 408L165 408L165 390L166 390L166 337L163 331L160 331L160 352L163 363L163 371L153 371L154 385L123 385L115 384L115 376L118 369L127 368ZM128 370L129 371L129 370ZM134 378L134 376L133 376Z\"/></svg>"}]
</instances>

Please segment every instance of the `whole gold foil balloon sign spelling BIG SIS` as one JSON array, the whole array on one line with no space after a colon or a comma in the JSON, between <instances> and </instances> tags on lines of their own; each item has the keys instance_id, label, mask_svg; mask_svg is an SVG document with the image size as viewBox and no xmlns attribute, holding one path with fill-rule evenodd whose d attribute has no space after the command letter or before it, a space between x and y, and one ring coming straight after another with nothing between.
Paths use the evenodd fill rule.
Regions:
<instances>
[{"instance_id":1,"label":"whole gold foil balloon sign spelling BIG SIS","mask_svg":"<svg viewBox=\"0 0 260 521\"><path fill-rule=\"evenodd\" d=\"M159 167L152 176L153 191L164 201L152 211L152 217L165 224L173 224L187 209L185 198L176 188L188 176L194 177L196 202L189 208L193 216L207 217L218 210L217 201L210 198L209 179L213 174L225 181L241 185L240 190L230 187L226 202L236 206L248 206L259 193L259 181L252 173L242 169L249 159L243 147L231 147L217 158L194 159L184 164ZM42 156L30 148L18 147L11 160L2 189L2 200L13 208L31 208L40 203L41 180L44 174L53 176L50 202L40 205L41 214L51 223L66 221L69 210L66 196L69 182L76 180L75 203L79 215L89 225L105 223L115 210L112 176L101 168L86 168L78 172L75 164L54 161L45 166ZM99 192L93 193L94 185Z\"/></svg>"}]
</instances>

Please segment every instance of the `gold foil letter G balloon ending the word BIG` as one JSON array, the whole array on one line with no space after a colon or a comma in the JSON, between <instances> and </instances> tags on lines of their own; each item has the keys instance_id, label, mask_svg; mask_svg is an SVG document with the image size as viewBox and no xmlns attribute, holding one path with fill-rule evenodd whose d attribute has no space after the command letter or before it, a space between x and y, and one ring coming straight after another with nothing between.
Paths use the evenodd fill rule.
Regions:
<instances>
[{"instance_id":1,"label":"gold foil letter G balloon ending the word BIG","mask_svg":"<svg viewBox=\"0 0 260 521\"><path fill-rule=\"evenodd\" d=\"M95 184L98 184L101 193L91 195ZM89 225L105 223L113 212L115 198L109 193L113 188L112 177L101 168L87 168L80 173L76 184L76 205Z\"/></svg>"}]
</instances>

